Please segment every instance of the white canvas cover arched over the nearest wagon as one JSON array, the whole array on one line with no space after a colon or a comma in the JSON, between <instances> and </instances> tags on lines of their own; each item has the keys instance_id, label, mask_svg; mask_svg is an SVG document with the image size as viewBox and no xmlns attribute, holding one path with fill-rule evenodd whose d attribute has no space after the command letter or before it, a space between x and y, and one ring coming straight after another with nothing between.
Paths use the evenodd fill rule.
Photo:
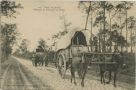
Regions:
<instances>
[{"instance_id":1,"label":"white canvas cover arched over the nearest wagon","mask_svg":"<svg viewBox=\"0 0 136 90\"><path fill-rule=\"evenodd\" d=\"M89 45L89 40L91 37L91 33L89 30L81 30L81 29L75 29L69 31L65 36L62 36L61 39L58 39L56 41L56 46L54 47L54 51L58 51L60 49L65 49L71 44L71 39L74 37L75 33L77 31L81 31L84 36L86 37L87 45Z\"/></svg>"}]
</instances>

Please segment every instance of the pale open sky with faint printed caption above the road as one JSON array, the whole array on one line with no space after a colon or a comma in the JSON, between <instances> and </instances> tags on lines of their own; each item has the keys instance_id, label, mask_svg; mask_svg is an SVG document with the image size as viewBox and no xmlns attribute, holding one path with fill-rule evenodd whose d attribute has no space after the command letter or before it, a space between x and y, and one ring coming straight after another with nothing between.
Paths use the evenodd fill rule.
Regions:
<instances>
[{"instance_id":1,"label":"pale open sky with faint printed caption above the road","mask_svg":"<svg viewBox=\"0 0 136 90\"><path fill-rule=\"evenodd\" d=\"M30 41L30 50L37 46L40 38L48 41L53 34L63 30L63 20L60 19L62 15L67 22L72 23L71 27L82 29L85 27L86 14L81 12L76 1L16 0L16 2L21 3L24 8L18 10L16 19L12 18L10 21L17 23L20 37ZM136 8L130 11L131 15L136 15L134 9ZM97 30L93 30L93 33L96 32Z\"/></svg>"}]
</instances>

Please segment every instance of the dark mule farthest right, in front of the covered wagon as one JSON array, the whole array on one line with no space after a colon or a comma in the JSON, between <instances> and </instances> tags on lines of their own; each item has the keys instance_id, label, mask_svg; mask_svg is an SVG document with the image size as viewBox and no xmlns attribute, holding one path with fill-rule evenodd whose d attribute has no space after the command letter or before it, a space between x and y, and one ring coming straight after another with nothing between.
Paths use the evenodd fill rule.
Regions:
<instances>
[{"instance_id":1,"label":"dark mule farthest right, in front of the covered wagon","mask_svg":"<svg viewBox=\"0 0 136 90\"><path fill-rule=\"evenodd\" d=\"M116 76L117 76L117 71L118 68L123 64L123 62L121 61L121 58L119 55L112 55L111 59L107 59L107 57L104 57L103 55L100 57L100 61L110 61L110 62L115 62L115 64L100 64L100 76L101 76L101 83L107 83L109 84L111 81L111 75L112 72L114 73L114 87L116 87ZM108 76L108 82L105 82L105 74L109 74Z\"/></svg>"}]
</instances>

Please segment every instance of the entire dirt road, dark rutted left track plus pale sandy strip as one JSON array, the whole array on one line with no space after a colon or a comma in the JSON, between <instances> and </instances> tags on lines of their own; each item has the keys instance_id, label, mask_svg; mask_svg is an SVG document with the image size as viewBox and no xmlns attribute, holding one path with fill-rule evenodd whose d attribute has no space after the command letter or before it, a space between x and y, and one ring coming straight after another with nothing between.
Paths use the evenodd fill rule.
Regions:
<instances>
[{"instance_id":1,"label":"entire dirt road, dark rutted left track plus pale sandy strip","mask_svg":"<svg viewBox=\"0 0 136 90\"><path fill-rule=\"evenodd\" d=\"M33 67L30 60L12 57L3 65L3 90L134 90L112 84L101 84L90 77L85 79L85 87L81 87L77 78L77 85L70 82L70 72L62 79L56 68Z\"/></svg>"}]
</instances>

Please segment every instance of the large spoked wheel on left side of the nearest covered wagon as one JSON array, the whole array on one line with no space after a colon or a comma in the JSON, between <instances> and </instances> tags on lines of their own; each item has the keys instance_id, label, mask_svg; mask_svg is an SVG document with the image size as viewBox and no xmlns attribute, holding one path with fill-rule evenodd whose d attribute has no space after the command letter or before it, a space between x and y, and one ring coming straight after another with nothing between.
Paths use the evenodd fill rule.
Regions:
<instances>
[{"instance_id":1,"label":"large spoked wheel on left side of the nearest covered wagon","mask_svg":"<svg viewBox=\"0 0 136 90\"><path fill-rule=\"evenodd\" d=\"M60 55L58 58L58 70L60 76L64 78L66 74L66 61L64 60L62 55Z\"/></svg>"}]
</instances>

